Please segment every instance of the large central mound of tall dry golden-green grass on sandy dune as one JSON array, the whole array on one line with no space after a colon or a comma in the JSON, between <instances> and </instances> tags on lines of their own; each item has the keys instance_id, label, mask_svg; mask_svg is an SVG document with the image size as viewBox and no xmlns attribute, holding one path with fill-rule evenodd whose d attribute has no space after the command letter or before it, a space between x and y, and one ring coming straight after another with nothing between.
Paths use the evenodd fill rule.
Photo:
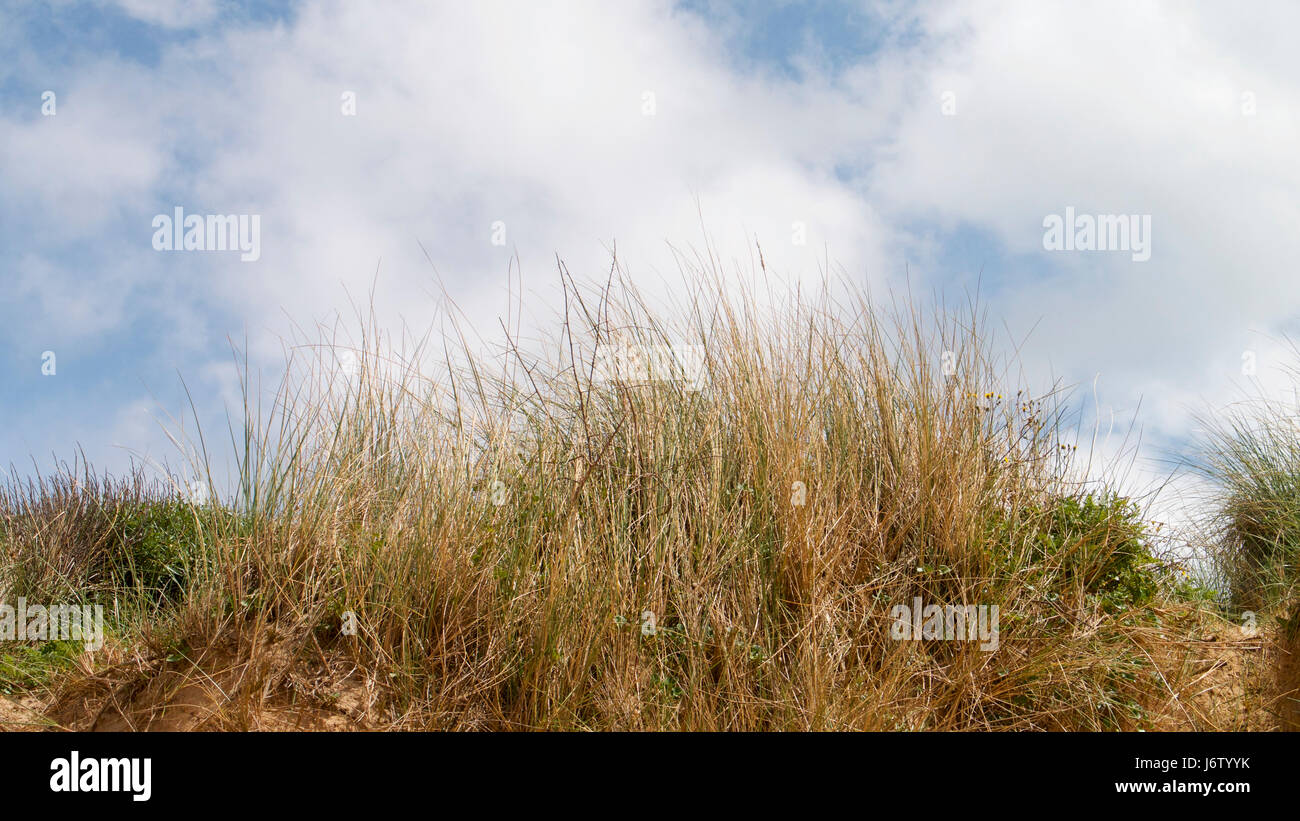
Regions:
<instances>
[{"instance_id":1,"label":"large central mound of tall dry golden-green grass on sandy dune","mask_svg":"<svg viewBox=\"0 0 1300 821\"><path fill-rule=\"evenodd\" d=\"M273 401L248 386L231 426L234 501L185 504L174 538L148 543L170 575L124 574L142 542L114 522L144 498L179 504L172 488L12 482L6 590L117 604L109 648L55 677L51 720L1225 724L1175 698L1221 622L1150 556L1127 500L1079 485L1057 398L985 359L976 312L793 292L759 309L711 270L692 281L664 316L616 270L599 288L564 277L556 336L499 356L458 330L433 365L432 346L373 333L355 373L337 344L295 348ZM696 346L702 379L601 378L618 346ZM204 472L207 443L181 444ZM997 605L997 650L892 639L890 608L914 598Z\"/></svg>"}]
</instances>

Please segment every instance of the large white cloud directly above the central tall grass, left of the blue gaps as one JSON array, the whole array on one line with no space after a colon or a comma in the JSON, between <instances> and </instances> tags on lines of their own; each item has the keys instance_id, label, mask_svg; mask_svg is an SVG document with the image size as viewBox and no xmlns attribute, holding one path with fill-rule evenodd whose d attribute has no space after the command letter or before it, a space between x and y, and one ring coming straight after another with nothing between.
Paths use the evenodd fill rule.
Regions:
<instances>
[{"instance_id":1,"label":"large white cloud directly above the central tall grass, left of the blue gaps","mask_svg":"<svg viewBox=\"0 0 1300 821\"><path fill-rule=\"evenodd\" d=\"M667 9L309 6L290 31L169 49L157 74L186 82L127 78L105 105L150 95L129 110L172 140L153 166L198 160L177 181L188 210L263 216L263 260L213 261L207 286L255 333L281 309L324 317L341 283L364 295L381 259L381 312L421 326L434 284L417 242L486 327L516 249L530 292L554 292L555 253L602 274L614 242L634 270L675 278L666 243L702 242L697 207L724 260L748 260L757 236L783 274L815 277L829 253L879 277L885 229L832 175L874 122L829 84L734 77L710 32ZM506 247L489 242L495 221Z\"/></svg>"}]
</instances>

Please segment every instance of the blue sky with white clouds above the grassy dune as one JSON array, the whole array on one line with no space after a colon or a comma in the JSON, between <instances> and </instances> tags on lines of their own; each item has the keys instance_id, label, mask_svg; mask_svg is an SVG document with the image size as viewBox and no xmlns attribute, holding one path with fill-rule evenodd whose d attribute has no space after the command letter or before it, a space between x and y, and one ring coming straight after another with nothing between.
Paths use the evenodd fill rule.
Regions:
<instances>
[{"instance_id":1,"label":"blue sky with white clouds above the grassy dune","mask_svg":"<svg viewBox=\"0 0 1300 821\"><path fill-rule=\"evenodd\" d=\"M1262 1L6 1L0 462L173 460L191 401L238 408L231 343L273 374L372 290L422 329L445 288L490 334L521 287L545 327L556 257L595 279L616 244L671 292L707 236L792 283L978 292L1138 492L1195 412L1287 390L1297 29ZM256 259L159 249L178 207L256 214ZM1049 248L1067 214L1147 230Z\"/></svg>"}]
</instances>

